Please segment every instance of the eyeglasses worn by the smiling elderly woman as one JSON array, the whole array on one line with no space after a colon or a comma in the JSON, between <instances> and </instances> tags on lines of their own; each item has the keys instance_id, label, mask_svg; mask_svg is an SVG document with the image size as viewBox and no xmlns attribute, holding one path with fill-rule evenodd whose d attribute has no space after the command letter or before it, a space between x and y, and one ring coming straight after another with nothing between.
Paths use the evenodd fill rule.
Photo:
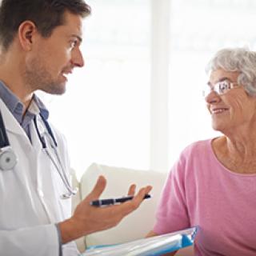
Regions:
<instances>
[{"instance_id":1,"label":"eyeglasses worn by the smiling elderly woman","mask_svg":"<svg viewBox=\"0 0 256 256\"><path fill-rule=\"evenodd\" d=\"M227 91L234 89L235 87L238 87L237 82L230 82L229 80L224 80L221 82L216 82L214 86L210 86L207 84L205 86L205 90L202 91L202 95L206 97L208 94L210 94L212 91L214 91L218 95L226 94Z\"/></svg>"}]
</instances>

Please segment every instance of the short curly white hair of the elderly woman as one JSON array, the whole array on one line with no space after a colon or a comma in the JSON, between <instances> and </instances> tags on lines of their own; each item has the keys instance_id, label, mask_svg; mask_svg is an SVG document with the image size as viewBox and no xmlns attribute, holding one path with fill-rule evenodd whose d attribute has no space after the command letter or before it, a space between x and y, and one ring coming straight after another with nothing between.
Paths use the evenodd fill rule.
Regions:
<instances>
[{"instance_id":1,"label":"short curly white hair of the elderly woman","mask_svg":"<svg viewBox=\"0 0 256 256\"><path fill-rule=\"evenodd\" d=\"M238 84L244 86L248 94L256 96L256 52L247 48L218 50L206 66L206 73L218 69L239 72Z\"/></svg>"}]
</instances>

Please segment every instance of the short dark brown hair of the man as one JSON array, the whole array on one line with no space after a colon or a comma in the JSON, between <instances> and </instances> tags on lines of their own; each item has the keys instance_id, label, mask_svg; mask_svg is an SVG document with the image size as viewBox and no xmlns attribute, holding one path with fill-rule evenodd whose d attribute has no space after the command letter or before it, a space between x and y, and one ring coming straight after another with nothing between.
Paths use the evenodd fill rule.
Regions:
<instances>
[{"instance_id":1,"label":"short dark brown hair of the man","mask_svg":"<svg viewBox=\"0 0 256 256\"><path fill-rule=\"evenodd\" d=\"M83 0L0 0L0 45L8 50L26 20L34 22L44 38L50 37L56 26L65 23L64 13L69 11L85 18L90 6Z\"/></svg>"}]
</instances>

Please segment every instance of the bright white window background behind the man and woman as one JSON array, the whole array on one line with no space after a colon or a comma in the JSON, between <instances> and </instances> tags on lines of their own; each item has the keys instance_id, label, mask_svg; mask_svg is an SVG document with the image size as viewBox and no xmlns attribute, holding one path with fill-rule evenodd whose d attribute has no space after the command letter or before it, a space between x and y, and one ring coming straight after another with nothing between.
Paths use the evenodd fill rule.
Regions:
<instances>
[{"instance_id":1,"label":"bright white window background behind the man and woman","mask_svg":"<svg viewBox=\"0 0 256 256\"><path fill-rule=\"evenodd\" d=\"M92 162L167 171L190 142L217 136L202 98L206 62L255 49L254 0L88 0L86 66L50 118L78 177ZM60 114L62 113L62 114Z\"/></svg>"}]
</instances>

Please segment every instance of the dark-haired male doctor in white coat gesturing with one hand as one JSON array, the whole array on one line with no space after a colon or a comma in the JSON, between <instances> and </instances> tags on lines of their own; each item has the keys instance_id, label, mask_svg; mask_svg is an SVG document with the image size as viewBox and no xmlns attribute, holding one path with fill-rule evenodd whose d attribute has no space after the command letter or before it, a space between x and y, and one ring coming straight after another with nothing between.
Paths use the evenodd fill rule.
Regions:
<instances>
[{"instance_id":1,"label":"dark-haired male doctor in white coat gesturing with one hand","mask_svg":"<svg viewBox=\"0 0 256 256\"><path fill-rule=\"evenodd\" d=\"M117 225L151 189L122 205L96 208L89 202L106 186L100 177L70 216L75 191L66 142L34 91L63 94L67 75L84 65L79 46L88 14L82 0L2 0L0 255L78 255L74 239Z\"/></svg>"}]
</instances>

